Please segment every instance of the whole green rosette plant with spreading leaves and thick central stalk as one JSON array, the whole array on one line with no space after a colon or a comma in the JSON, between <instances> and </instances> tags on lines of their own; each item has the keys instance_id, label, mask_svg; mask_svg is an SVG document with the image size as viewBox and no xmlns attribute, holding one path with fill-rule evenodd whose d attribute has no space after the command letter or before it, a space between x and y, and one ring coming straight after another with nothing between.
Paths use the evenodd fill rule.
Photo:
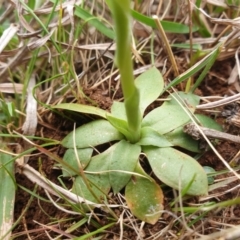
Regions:
<instances>
[{"instance_id":1,"label":"whole green rosette plant with spreading leaves and thick central stalk","mask_svg":"<svg viewBox=\"0 0 240 240\"><path fill-rule=\"evenodd\" d=\"M105 202L111 189L114 194L125 189L132 213L154 224L163 210L163 192L144 171L140 160L148 160L155 176L166 185L184 194L206 195L206 172L194 158L174 146L199 152L198 142L183 132L190 116L206 127L217 130L220 127L208 117L194 115L200 99L192 93L173 93L168 101L144 116L146 108L163 92L164 81L155 67L134 80L130 1L112 0L109 4L115 22L115 62L124 102L114 102L110 113L74 103L56 106L101 118L80 126L62 140L67 148L63 175L75 176L72 191L96 203ZM183 108L180 103L188 107ZM93 148L105 143L111 143L110 147L92 156Z\"/></svg>"}]
</instances>

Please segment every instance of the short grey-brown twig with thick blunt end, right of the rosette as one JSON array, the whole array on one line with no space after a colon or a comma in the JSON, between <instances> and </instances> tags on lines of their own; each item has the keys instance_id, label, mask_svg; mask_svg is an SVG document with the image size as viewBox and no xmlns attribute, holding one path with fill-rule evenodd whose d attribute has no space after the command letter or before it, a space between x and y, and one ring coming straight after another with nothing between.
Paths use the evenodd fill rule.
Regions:
<instances>
[{"instance_id":1,"label":"short grey-brown twig with thick blunt end, right of the rosette","mask_svg":"<svg viewBox=\"0 0 240 240\"><path fill-rule=\"evenodd\" d=\"M235 143L240 143L239 136L235 136L235 135L224 133L224 132L219 132L217 130L213 130L210 128L205 128L200 126L198 127L202 130L203 134L209 138L216 138L216 139L231 141ZM189 134L190 136L192 136L194 139L199 140L199 139L202 139L203 137L198 127L194 123L188 123L187 125L184 126L183 131Z\"/></svg>"}]
</instances>

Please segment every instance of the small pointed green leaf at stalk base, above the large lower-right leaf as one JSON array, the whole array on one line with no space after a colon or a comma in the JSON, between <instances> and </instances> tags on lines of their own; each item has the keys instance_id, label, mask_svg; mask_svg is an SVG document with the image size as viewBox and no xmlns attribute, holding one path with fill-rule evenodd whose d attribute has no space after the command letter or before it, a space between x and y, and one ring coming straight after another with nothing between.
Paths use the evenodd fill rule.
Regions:
<instances>
[{"instance_id":1,"label":"small pointed green leaf at stalk base, above the large lower-right leaf","mask_svg":"<svg viewBox=\"0 0 240 240\"><path fill-rule=\"evenodd\" d=\"M136 144L142 146L155 146L155 147L171 147L173 144L169 142L163 135L150 127L141 129L141 139Z\"/></svg>"}]
</instances>

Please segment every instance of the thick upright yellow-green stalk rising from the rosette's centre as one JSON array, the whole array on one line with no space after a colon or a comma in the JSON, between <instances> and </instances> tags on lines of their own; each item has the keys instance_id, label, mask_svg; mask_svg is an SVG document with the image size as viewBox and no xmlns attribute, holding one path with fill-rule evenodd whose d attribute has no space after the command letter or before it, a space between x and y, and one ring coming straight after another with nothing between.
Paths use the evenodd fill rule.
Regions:
<instances>
[{"instance_id":1,"label":"thick upright yellow-green stalk rising from the rosette's centre","mask_svg":"<svg viewBox=\"0 0 240 240\"><path fill-rule=\"evenodd\" d=\"M116 64L121 75L128 130L131 133L129 141L135 143L140 138L141 113L139 109L140 96L134 84L131 59L130 1L113 0L111 10L116 31Z\"/></svg>"}]
</instances>

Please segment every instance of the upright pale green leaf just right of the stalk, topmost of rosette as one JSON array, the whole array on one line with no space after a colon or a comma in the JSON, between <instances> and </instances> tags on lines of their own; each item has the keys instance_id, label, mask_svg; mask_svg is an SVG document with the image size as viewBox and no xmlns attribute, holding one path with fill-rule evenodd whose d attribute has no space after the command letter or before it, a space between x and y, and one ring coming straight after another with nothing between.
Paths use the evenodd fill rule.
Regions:
<instances>
[{"instance_id":1,"label":"upright pale green leaf just right of the stalk, topmost of rosette","mask_svg":"<svg viewBox=\"0 0 240 240\"><path fill-rule=\"evenodd\" d=\"M143 116L146 108L159 97L164 81L161 73L153 67L138 76L135 84L140 93L140 110Z\"/></svg>"}]
</instances>

